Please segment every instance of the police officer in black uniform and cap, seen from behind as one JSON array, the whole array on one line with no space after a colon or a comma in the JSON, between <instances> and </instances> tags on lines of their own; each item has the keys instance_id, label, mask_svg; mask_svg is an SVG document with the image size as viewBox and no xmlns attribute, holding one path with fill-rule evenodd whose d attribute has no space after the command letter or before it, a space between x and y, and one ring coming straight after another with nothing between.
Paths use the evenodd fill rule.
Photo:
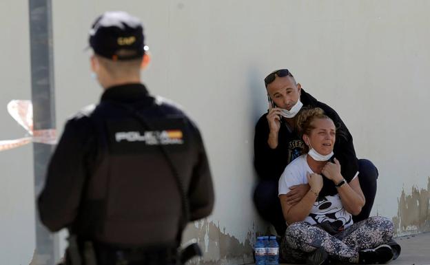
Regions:
<instances>
[{"instance_id":1,"label":"police officer in black uniform and cap, seen from behind","mask_svg":"<svg viewBox=\"0 0 430 265\"><path fill-rule=\"evenodd\" d=\"M198 128L141 83L144 40L125 12L105 12L90 30L104 92L66 123L38 201L50 231L69 230L66 264L178 264L185 224L212 212Z\"/></svg>"}]
</instances>

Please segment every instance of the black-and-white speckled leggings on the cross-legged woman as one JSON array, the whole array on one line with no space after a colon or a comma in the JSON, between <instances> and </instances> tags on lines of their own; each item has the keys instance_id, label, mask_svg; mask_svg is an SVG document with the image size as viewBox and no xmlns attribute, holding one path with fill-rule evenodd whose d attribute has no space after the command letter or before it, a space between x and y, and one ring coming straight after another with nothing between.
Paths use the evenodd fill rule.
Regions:
<instances>
[{"instance_id":1,"label":"black-and-white speckled leggings on the cross-legged woman","mask_svg":"<svg viewBox=\"0 0 430 265\"><path fill-rule=\"evenodd\" d=\"M358 251L386 244L392 239L393 231L393 223L380 216L352 224L336 235L307 222L296 222L285 231L280 257L285 262L303 263L308 253L322 247L338 262L358 263Z\"/></svg>"}]
</instances>

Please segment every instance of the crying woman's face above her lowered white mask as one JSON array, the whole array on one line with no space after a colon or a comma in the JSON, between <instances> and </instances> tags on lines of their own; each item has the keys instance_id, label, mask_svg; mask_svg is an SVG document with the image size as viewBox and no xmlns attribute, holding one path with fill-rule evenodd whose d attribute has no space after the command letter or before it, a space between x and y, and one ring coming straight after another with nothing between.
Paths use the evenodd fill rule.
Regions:
<instances>
[{"instance_id":1,"label":"crying woman's face above her lowered white mask","mask_svg":"<svg viewBox=\"0 0 430 265\"><path fill-rule=\"evenodd\" d=\"M333 120L329 118L316 118L312 121L315 129L311 130L310 135L303 135L303 140L310 147L314 148L322 155L328 155L333 151L334 142L336 141L336 127Z\"/></svg>"}]
</instances>

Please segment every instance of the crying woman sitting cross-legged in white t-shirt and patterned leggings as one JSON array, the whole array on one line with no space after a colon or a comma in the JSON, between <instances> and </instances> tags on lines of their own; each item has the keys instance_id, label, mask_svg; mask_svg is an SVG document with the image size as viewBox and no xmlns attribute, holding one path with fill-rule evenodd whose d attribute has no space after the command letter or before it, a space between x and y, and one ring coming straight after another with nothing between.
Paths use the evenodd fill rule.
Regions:
<instances>
[{"instance_id":1,"label":"crying woman sitting cross-legged in white t-shirt and patterned leggings","mask_svg":"<svg viewBox=\"0 0 430 265\"><path fill-rule=\"evenodd\" d=\"M349 262L387 263L400 254L393 241L393 224L374 216L354 223L365 204L358 172L351 179L342 176L336 153L336 126L323 109L303 109L296 128L305 142L303 155L292 161L279 179L279 199L287 222L280 246L285 261L307 264ZM297 203L286 194L298 184L309 191Z\"/></svg>"}]
</instances>

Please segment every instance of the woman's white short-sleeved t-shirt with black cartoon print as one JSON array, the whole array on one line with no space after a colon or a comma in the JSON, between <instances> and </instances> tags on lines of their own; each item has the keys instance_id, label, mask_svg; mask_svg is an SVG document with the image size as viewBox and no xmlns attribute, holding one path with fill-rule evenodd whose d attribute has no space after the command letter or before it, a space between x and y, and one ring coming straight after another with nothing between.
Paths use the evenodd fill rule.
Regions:
<instances>
[{"instance_id":1,"label":"woman's white short-sleeved t-shirt with black cartoon print","mask_svg":"<svg viewBox=\"0 0 430 265\"><path fill-rule=\"evenodd\" d=\"M289 188L294 185L307 184L307 173L314 171L307 164L306 156L307 154L299 156L285 167L279 179L278 195L287 194ZM353 224L352 215L343 208L339 194L319 196L304 221L309 224L321 224L325 221L342 222L344 228Z\"/></svg>"}]
</instances>

